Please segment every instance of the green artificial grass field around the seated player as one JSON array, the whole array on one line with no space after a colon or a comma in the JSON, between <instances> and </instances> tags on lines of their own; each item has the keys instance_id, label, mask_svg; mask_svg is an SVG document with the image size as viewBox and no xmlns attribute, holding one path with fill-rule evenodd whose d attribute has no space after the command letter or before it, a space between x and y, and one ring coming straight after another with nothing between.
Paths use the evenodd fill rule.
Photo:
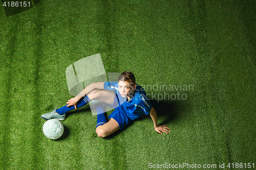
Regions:
<instances>
[{"instance_id":1,"label":"green artificial grass field around the seated player","mask_svg":"<svg viewBox=\"0 0 256 170\"><path fill-rule=\"evenodd\" d=\"M10 16L0 3L0 169L256 168L255 1L32 2ZM98 53L105 72L148 87L169 134L144 116L100 138L85 106L60 140L44 136L40 115L72 97L66 68Z\"/></svg>"}]
</instances>

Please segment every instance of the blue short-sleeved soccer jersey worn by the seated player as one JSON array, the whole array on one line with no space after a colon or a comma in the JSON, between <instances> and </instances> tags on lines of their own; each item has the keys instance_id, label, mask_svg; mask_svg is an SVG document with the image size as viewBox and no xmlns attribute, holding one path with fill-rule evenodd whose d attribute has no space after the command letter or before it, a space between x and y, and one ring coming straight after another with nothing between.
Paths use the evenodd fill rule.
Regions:
<instances>
[{"instance_id":1,"label":"blue short-sleeved soccer jersey worn by the seated player","mask_svg":"<svg viewBox=\"0 0 256 170\"><path fill-rule=\"evenodd\" d=\"M120 95L118 82L105 82L104 89L115 91L120 103L117 109L125 113L131 120L139 118L143 113L149 114L152 109L152 105L147 100L145 90L138 84L136 84L136 88L129 101Z\"/></svg>"}]
</instances>

